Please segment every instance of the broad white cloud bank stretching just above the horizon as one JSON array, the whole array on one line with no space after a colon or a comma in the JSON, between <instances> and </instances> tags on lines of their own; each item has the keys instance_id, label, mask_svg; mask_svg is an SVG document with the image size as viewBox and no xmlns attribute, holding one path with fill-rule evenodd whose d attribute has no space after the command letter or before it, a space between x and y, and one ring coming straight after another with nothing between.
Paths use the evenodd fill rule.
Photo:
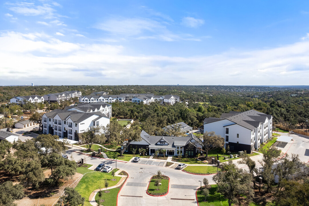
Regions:
<instances>
[{"instance_id":1,"label":"broad white cloud bank stretching just above the horizon","mask_svg":"<svg viewBox=\"0 0 309 206\"><path fill-rule=\"evenodd\" d=\"M309 75L309 41L198 57L130 55L120 45L77 44L45 33L2 33L0 45L2 84L11 79L20 84L158 84L159 78L169 84L269 85L276 76L305 85Z\"/></svg>"}]
</instances>

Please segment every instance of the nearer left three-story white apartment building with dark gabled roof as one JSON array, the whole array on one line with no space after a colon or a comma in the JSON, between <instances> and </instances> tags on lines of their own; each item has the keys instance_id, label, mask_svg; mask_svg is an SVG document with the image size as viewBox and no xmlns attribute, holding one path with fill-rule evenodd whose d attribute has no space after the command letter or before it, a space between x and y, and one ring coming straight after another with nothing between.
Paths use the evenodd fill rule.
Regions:
<instances>
[{"instance_id":1,"label":"nearer left three-story white apartment building with dark gabled roof","mask_svg":"<svg viewBox=\"0 0 309 206\"><path fill-rule=\"evenodd\" d=\"M69 140L79 141L78 134L90 127L106 126L110 118L101 112L78 112L56 109L42 116L44 134L58 135Z\"/></svg>"}]
</instances>

